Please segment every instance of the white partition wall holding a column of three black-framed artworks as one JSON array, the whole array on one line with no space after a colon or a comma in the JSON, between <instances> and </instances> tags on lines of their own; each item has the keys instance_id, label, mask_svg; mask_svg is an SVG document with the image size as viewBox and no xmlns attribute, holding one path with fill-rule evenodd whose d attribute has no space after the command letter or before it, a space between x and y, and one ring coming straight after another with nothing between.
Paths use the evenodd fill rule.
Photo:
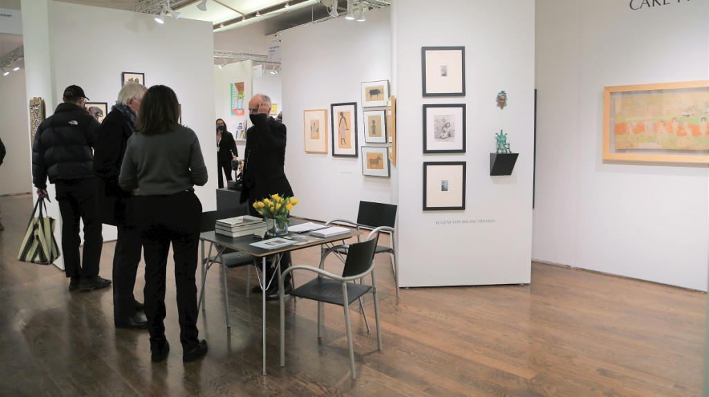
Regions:
<instances>
[{"instance_id":1,"label":"white partition wall holding a column of three black-framed artworks","mask_svg":"<svg viewBox=\"0 0 709 397\"><path fill-rule=\"evenodd\" d=\"M398 252L401 286L530 282L534 120L534 2L396 1ZM465 47L465 96L423 97L421 47ZM496 106L506 91L508 106ZM423 104L465 104L464 153L423 153ZM495 134L519 153L490 176ZM465 209L423 211L423 162L465 162Z\"/></svg>"}]
</instances>

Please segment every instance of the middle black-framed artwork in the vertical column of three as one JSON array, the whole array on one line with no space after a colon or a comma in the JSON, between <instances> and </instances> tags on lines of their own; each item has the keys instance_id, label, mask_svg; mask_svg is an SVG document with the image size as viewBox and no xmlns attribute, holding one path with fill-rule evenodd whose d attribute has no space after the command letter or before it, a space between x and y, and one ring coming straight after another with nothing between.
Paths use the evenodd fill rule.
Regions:
<instances>
[{"instance_id":1,"label":"middle black-framed artwork in the vertical column of three","mask_svg":"<svg viewBox=\"0 0 709 397\"><path fill-rule=\"evenodd\" d=\"M423 152L465 152L465 104L423 105Z\"/></svg>"}]
</instances>

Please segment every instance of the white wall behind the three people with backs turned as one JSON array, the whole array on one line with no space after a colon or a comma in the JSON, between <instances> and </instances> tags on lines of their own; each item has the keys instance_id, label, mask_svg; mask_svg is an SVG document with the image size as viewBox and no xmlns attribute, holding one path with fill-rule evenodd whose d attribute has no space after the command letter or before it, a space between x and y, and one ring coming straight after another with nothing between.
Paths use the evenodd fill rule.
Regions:
<instances>
[{"instance_id":1,"label":"white wall behind the three people with backs turned","mask_svg":"<svg viewBox=\"0 0 709 397\"><path fill-rule=\"evenodd\" d=\"M216 162L216 152L204 146L211 142L214 128L209 23L165 18L160 26L146 14L48 0L23 0L22 8L27 104L33 96L43 97L50 116L65 87L78 84L91 101L106 102L110 108L121 89L121 72L145 73L147 86L174 89L182 123L199 136L205 161ZM196 186L205 210L216 208L215 189L215 178ZM52 185L49 190L54 197ZM50 215L60 218L57 206L51 206ZM114 238L115 228L104 226L104 240Z\"/></svg>"}]
</instances>

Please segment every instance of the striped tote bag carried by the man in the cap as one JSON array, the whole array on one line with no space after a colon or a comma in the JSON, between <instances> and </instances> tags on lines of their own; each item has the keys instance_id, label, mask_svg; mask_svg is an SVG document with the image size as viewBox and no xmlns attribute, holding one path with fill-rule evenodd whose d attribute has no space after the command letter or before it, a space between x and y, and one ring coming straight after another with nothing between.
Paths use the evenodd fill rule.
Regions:
<instances>
[{"instance_id":1,"label":"striped tote bag carried by the man in the cap","mask_svg":"<svg viewBox=\"0 0 709 397\"><path fill-rule=\"evenodd\" d=\"M47 198L49 201L49 198ZM44 210L44 211L43 211ZM44 198L38 197L35 209L30 216L25 237L20 245L17 260L36 264L50 264L60 255L57 240L54 237L55 219L45 216L47 205Z\"/></svg>"}]
</instances>

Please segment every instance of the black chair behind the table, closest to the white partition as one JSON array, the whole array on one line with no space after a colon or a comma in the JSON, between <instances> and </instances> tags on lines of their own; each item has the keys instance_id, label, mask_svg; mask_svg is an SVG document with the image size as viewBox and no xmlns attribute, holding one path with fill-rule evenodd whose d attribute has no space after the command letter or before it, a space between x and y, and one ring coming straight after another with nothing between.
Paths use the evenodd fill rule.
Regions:
<instances>
[{"instance_id":1,"label":"black chair behind the table, closest to the white partition","mask_svg":"<svg viewBox=\"0 0 709 397\"><path fill-rule=\"evenodd\" d=\"M369 230L378 230L380 232L389 233L389 247L386 245L377 245L376 254L389 254L391 262L391 270L394 274L394 284L396 284L396 297L399 296L398 286L398 263L396 262L396 206L393 204L374 203L372 201L359 201L359 211L357 211L357 222L346 219L333 219L330 223L345 223L352 225L360 230L361 228ZM359 241L359 237L357 237ZM347 246L337 250L338 254L347 255Z\"/></svg>"}]
</instances>

